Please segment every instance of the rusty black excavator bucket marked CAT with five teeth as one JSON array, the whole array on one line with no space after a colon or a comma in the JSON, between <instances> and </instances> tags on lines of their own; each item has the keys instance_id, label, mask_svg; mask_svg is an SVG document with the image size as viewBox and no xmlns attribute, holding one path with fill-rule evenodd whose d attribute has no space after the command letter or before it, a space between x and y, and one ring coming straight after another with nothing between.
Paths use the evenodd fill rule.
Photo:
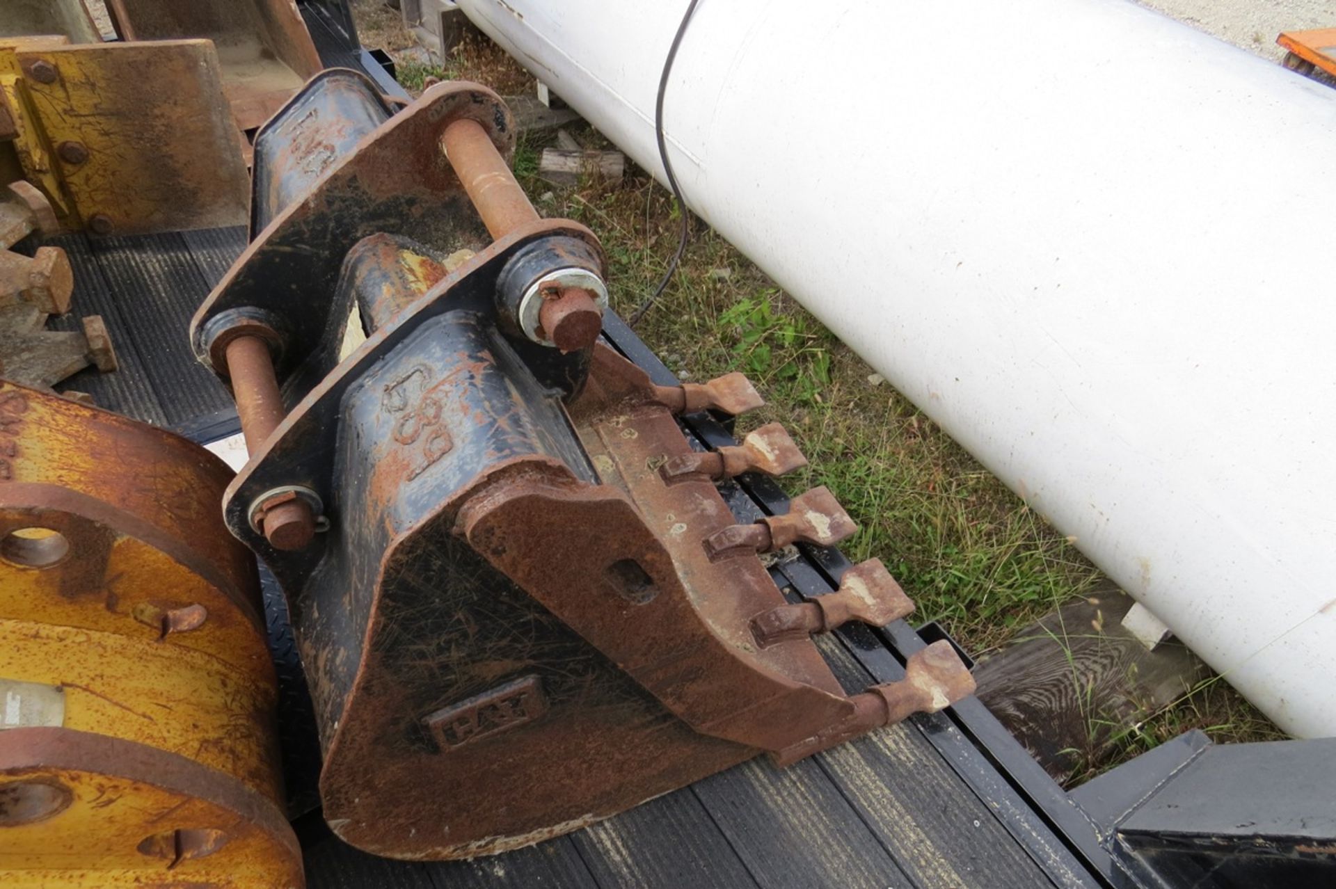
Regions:
<instances>
[{"instance_id":1,"label":"rusty black excavator bucket marked CAT with five teeth","mask_svg":"<svg viewBox=\"0 0 1336 889\"><path fill-rule=\"evenodd\" d=\"M879 563L784 599L756 553L854 523L816 489L736 525L716 478L802 455L774 427L693 451L677 414L759 395L655 386L599 342L603 251L538 218L513 140L484 87L391 115L318 75L257 135L251 244L191 324L236 399L226 521L289 597L325 817L382 856L529 845L973 689L947 645L846 694L808 634L907 601Z\"/></svg>"}]
</instances>

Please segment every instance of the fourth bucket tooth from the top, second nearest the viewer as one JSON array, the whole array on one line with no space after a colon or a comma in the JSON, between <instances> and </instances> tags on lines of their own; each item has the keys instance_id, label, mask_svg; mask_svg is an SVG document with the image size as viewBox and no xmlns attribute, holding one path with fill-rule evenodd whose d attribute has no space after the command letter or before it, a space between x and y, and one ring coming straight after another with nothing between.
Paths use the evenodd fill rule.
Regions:
<instances>
[{"instance_id":1,"label":"fourth bucket tooth from the top, second nearest the viewer","mask_svg":"<svg viewBox=\"0 0 1336 889\"><path fill-rule=\"evenodd\" d=\"M831 633L850 621L886 626L912 610L914 602L882 561L868 559L844 571L835 593L774 607L752 618L751 627L756 642L764 646L811 633Z\"/></svg>"}]
</instances>

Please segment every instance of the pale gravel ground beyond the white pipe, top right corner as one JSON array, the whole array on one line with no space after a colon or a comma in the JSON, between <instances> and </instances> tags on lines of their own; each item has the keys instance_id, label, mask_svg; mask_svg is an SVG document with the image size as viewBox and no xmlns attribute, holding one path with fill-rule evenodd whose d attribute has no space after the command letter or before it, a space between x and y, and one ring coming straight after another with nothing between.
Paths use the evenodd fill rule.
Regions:
<instances>
[{"instance_id":1,"label":"pale gravel ground beyond the white pipe, top right corner","mask_svg":"<svg viewBox=\"0 0 1336 889\"><path fill-rule=\"evenodd\" d=\"M1336 0L1140 0L1141 5L1280 61L1281 31L1336 28Z\"/></svg>"}]
</instances>

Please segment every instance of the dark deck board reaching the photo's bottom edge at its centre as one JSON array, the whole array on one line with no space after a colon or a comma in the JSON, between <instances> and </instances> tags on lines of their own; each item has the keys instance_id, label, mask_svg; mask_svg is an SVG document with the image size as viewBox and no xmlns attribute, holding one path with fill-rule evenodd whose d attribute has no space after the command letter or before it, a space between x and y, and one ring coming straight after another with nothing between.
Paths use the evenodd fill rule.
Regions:
<instances>
[{"instance_id":1,"label":"dark deck board reaching the photo's bottom edge at its centre","mask_svg":"<svg viewBox=\"0 0 1336 889\"><path fill-rule=\"evenodd\" d=\"M570 838L604 889L758 886L689 789L600 821Z\"/></svg>"}]
</instances>

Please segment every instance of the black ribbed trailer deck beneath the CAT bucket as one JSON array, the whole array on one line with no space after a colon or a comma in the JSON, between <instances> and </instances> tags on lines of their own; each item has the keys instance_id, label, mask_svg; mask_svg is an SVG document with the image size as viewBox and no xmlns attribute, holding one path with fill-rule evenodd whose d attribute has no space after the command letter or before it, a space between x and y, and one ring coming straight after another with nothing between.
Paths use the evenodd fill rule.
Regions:
<instances>
[{"instance_id":1,"label":"black ribbed trailer deck beneath the CAT bucket","mask_svg":"<svg viewBox=\"0 0 1336 889\"><path fill-rule=\"evenodd\" d=\"M370 69L355 35L321 4L305 7L326 61ZM383 71L373 71L383 77ZM242 228L148 236L51 239L75 268L75 312L98 312L120 371L83 372L65 386L99 406L210 442L236 431L231 399L191 355L194 310L246 246ZM619 319L608 340L657 382L672 374ZM684 420L701 447L731 442L707 415ZM725 486L743 521L783 511L771 481ZM846 562L808 550L771 569L791 597L834 589ZM290 797L302 809L318 768L303 690L282 625L282 599L267 586L275 658L285 679L282 718ZM822 641L851 691L903 675L922 646L903 622L856 626ZM295 685L294 685L295 683ZM561 776L552 776L561 781ZM430 813L422 813L430 818ZM335 886L1098 886L1109 864L1089 821L970 698L949 711L912 717L788 769L756 760L541 845L469 862L399 862L359 853L329 833L318 812L295 822L313 889Z\"/></svg>"}]
</instances>

